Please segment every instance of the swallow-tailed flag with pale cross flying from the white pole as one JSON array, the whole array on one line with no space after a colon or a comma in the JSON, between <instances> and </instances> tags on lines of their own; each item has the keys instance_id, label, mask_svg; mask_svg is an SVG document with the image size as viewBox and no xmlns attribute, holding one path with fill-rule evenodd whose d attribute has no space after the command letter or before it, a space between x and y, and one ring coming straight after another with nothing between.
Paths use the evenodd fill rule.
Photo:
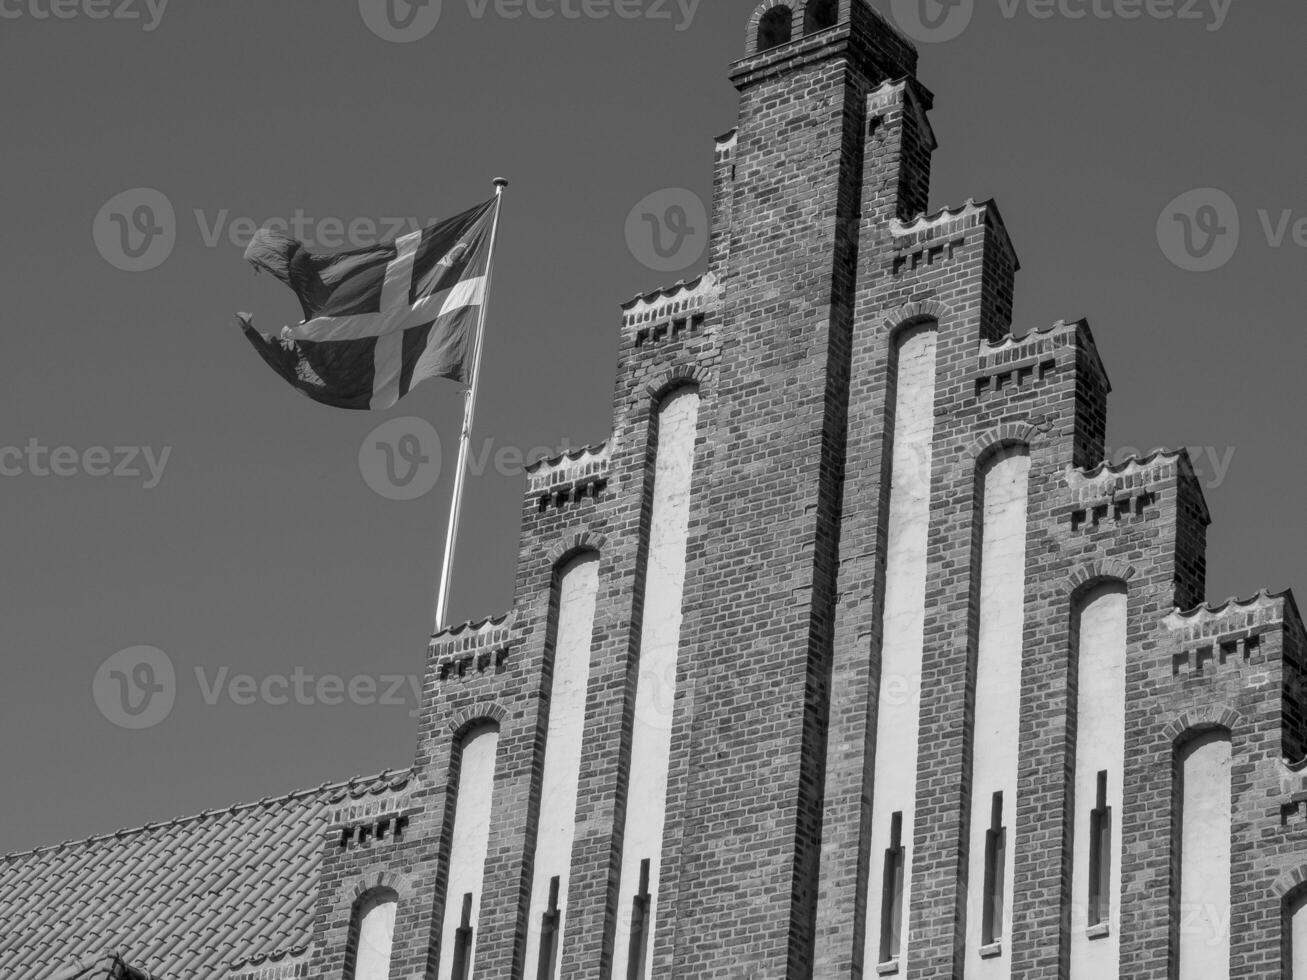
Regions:
<instances>
[{"instance_id":1,"label":"swallow-tailed flag with pale cross flying from the white pole","mask_svg":"<svg viewBox=\"0 0 1307 980\"><path fill-rule=\"evenodd\" d=\"M486 298L495 199L391 244L320 255L261 229L246 250L299 297L303 323L264 336L273 371L314 401L388 409L429 378L467 382Z\"/></svg>"}]
</instances>

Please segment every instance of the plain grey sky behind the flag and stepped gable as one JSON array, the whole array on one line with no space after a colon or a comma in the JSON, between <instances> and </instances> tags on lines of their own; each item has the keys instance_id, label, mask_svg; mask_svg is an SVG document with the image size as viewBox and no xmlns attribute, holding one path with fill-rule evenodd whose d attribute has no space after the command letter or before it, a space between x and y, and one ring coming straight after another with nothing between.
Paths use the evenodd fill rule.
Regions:
<instances>
[{"instance_id":1,"label":"plain grey sky behind the flag and stepped gable","mask_svg":"<svg viewBox=\"0 0 1307 980\"><path fill-rule=\"evenodd\" d=\"M512 180L454 621L511 605L520 459L608 435L620 303L701 268L627 218L707 199L752 3L378 3L0 0L0 852L412 759L460 393L293 392L234 325L299 319L243 235ZM876 3L921 38L932 208L999 200L1016 333L1089 318L1114 456L1195 451L1209 595L1307 584L1307 5Z\"/></svg>"}]
</instances>

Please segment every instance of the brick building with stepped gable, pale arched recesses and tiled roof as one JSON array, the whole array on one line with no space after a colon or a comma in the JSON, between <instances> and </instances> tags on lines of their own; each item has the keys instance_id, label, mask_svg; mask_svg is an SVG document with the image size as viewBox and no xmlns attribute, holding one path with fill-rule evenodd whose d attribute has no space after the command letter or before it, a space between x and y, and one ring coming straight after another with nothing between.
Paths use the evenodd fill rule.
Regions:
<instances>
[{"instance_id":1,"label":"brick building with stepped gable, pale arched recesses and tiled roof","mask_svg":"<svg viewBox=\"0 0 1307 980\"><path fill-rule=\"evenodd\" d=\"M1294 600L1205 605L1187 456L1102 464L1087 324L1013 336L911 44L745 43L708 269L626 304L412 768L3 858L0 975L1307 977Z\"/></svg>"}]
</instances>

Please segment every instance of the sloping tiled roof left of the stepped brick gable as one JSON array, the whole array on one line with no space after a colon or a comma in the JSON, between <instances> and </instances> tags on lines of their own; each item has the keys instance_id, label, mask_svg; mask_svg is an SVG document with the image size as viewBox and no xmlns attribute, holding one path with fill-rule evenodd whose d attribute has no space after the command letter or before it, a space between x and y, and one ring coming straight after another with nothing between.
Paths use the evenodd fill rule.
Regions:
<instances>
[{"instance_id":1,"label":"sloping tiled roof left of the stepped brick gable","mask_svg":"<svg viewBox=\"0 0 1307 980\"><path fill-rule=\"evenodd\" d=\"M0 857L0 977L51 980L112 953L165 980L220 980L308 943L329 808L409 772L328 784Z\"/></svg>"}]
</instances>

